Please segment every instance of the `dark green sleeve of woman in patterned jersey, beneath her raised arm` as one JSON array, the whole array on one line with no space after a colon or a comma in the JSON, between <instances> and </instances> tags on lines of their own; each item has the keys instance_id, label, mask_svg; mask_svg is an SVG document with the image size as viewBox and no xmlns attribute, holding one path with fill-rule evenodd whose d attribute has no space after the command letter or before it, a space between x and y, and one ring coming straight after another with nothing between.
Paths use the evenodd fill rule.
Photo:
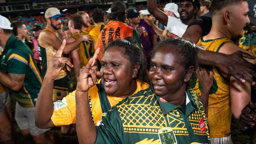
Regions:
<instances>
[{"instance_id":1,"label":"dark green sleeve of woman in patterned jersey, beneath her raised arm","mask_svg":"<svg viewBox=\"0 0 256 144\"><path fill-rule=\"evenodd\" d=\"M96 127L97 138L95 144L125 144L122 120L116 107L109 110Z\"/></svg>"}]
</instances>

